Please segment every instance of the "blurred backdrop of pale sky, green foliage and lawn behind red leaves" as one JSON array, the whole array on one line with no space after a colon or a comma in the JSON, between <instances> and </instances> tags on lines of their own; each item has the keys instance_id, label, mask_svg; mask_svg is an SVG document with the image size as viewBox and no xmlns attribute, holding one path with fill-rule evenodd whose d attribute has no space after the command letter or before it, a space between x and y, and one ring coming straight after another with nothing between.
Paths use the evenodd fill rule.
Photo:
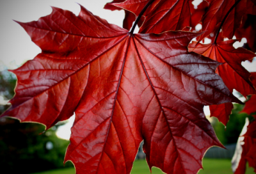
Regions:
<instances>
[{"instance_id":1,"label":"blurred backdrop of pale sky, green foliage and lawn behind red leaves","mask_svg":"<svg viewBox=\"0 0 256 174\"><path fill-rule=\"evenodd\" d=\"M20 67L22 63L28 59L33 59L36 54L40 53L40 48L31 42L24 29L13 20L20 22L38 20L40 17L51 13L50 6L70 10L78 15L80 11L79 4L81 4L93 14L108 20L109 23L122 27L124 11L111 12L104 10L104 5L109 1L0 1L0 114L10 106L8 100L12 99L14 95L13 89L16 84L15 75L8 72L7 69ZM200 0L194 1L195 7L200 2ZM200 25L198 26L199 29ZM246 43L246 39L243 39L242 42L236 42L234 46L242 47L244 43ZM254 59L252 63L249 61L243 62L243 66L251 72L256 71L256 60ZM236 91L234 91L234 94L239 99L245 100ZM245 118L252 119L249 115L239 113L242 109L242 105L234 104L230 121L227 127L225 127L222 123L218 122L218 119L209 118L209 109L205 107L205 115L212 123L221 143L227 148L227 150L224 150L218 147L212 147L205 154L205 164L209 162L209 165L212 166L214 162L211 159L227 159L224 163L227 162L227 165L229 165L236 148L237 138L243 129ZM22 174L67 168L68 170L60 170L59 173L75 173L71 162L67 162L65 167L63 166L65 151L69 144L70 127L72 127L73 122L74 116L65 122L58 123L48 131L44 131L44 125L38 123L19 123L19 120L12 118L0 118L0 169L2 171L8 170L8 173ZM143 154L141 148L136 159L143 159L143 161L142 163L140 161L134 163L132 173L143 173L141 168L145 168L145 171L149 173L144 160L145 154ZM207 161L208 159L209 161ZM219 160L219 163L216 165L220 166L220 163ZM231 164L227 167L229 169L228 172L232 172L230 166ZM159 173L161 171L154 169L152 172Z\"/></svg>"}]
</instances>

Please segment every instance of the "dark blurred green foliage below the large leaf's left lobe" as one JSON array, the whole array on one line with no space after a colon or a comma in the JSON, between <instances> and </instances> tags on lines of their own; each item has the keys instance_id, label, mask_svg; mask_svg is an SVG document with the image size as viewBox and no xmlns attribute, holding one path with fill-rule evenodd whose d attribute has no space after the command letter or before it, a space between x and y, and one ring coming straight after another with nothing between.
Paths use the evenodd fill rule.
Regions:
<instances>
[{"instance_id":1,"label":"dark blurred green foliage below the large leaf's left lobe","mask_svg":"<svg viewBox=\"0 0 256 174\"><path fill-rule=\"evenodd\" d=\"M42 131L44 125L1 118L1 170L20 174L63 168L69 141L56 137L56 126L41 134ZM47 149L47 143L52 148ZM66 166L70 166L70 163Z\"/></svg>"}]
</instances>

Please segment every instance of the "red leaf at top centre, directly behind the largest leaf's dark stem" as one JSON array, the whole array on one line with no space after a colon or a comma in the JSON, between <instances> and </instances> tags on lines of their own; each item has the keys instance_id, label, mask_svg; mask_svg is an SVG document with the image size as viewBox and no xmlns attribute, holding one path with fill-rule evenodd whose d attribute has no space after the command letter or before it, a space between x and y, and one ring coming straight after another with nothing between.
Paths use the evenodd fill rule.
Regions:
<instances>
[{"instance_id":1,"label":"red leaf at top centre, directly behind the largest leaf's dark stem","mask_svg":"<svg viewBox=\"0 0 256 174\"><path fill-rule=\"evenodd\" d=\"M127 0L115 6L129 10L138 16L150 0ZM156 0L143 13L145 21L139 33L163 33L170 30L182 30L191 26L191 0Z\"/></svg>"}]
</instances>

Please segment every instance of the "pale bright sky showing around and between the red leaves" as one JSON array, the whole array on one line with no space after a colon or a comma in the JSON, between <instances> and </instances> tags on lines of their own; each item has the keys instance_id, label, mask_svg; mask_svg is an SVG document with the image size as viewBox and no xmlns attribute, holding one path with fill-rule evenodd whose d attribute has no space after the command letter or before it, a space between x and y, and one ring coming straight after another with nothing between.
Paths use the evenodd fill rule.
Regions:
<instances>
[{"instance_id":1,"label":"pale bright sky showing around and between the red leaves","mask_svg":"<svg viewBox=\"0 0 256 174\"><path fill-rule=\"evenodd\" d=\"M124 10L113 11L104 10L103 7L111 0L1 0L0 1L0 70L14 69L22 65L28 59L33 59L41 52L40 48L31 42L31 38L26 31L13 20L20 22L30 22L38 20L40 17L49 15L51 6L70 10L78 15L79 4L83 5L94 15L108 20L111 24L122 27ZM200 2L202 0L196 0ZM78 4L77 4L78 3ZM196 5L196 3L194 3ZM241 43L243 45L243 43ZM243 65L249 71L256 71L256 60L253 63L245 62ZM205 115L209 115L209 109L205 109ZM58 129L57 135L60 138L69 139L70 127L74 122L74 116L70 118L66 125Z\"/></svg>"}]
</instances>

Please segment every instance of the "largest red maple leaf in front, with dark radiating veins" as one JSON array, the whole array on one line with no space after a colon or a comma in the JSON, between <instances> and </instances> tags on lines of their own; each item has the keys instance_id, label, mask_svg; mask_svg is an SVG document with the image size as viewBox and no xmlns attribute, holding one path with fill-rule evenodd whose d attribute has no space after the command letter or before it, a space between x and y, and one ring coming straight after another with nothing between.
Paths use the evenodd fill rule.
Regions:
<instances>
[{"instance_id":1,"label":"largest red maple leaf in front, with dark radiating veins","mask_svg":"<svg viewBox=\"0 0 256 174\"><path fill-rule=\"evenodd\" d=\"M197 173L221 146L203 107L239 100L215 74L220 63L188 52L198 33L133 35L83 7L19 24L42 53L12 71L3 116L49 128L75 112L65 161L77 173L130 173L142 139L150 168Z\"/></svg>"}]
</instances>

